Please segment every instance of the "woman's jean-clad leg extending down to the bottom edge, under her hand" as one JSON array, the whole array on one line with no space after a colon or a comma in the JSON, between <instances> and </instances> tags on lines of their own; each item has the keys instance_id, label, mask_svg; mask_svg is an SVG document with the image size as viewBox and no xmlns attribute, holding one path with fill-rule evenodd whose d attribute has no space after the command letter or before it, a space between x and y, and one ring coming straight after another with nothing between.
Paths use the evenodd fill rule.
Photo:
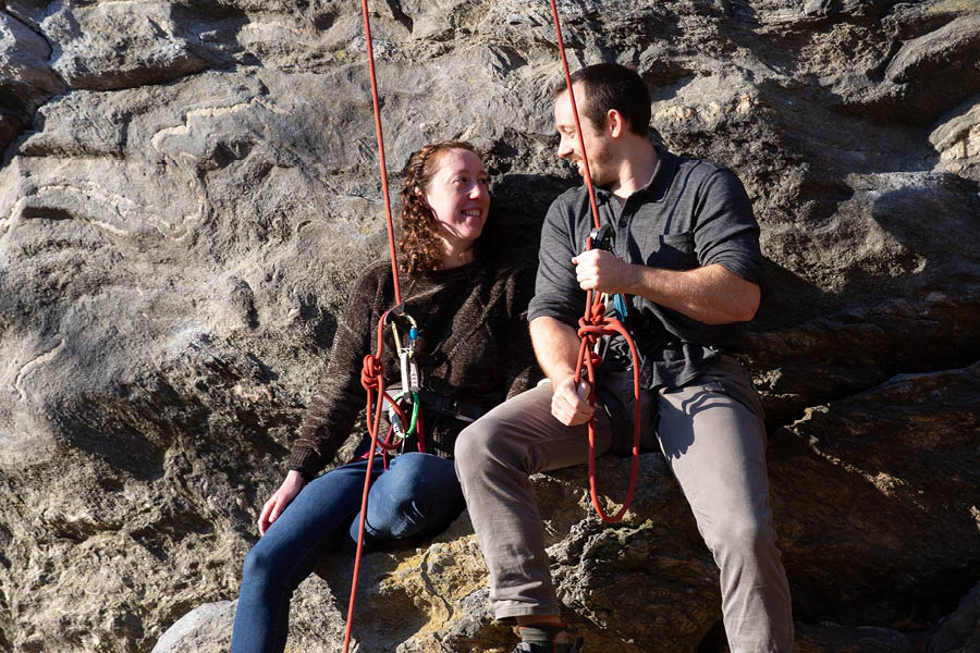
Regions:
<instances>
[{"instance_id":1,"label":"woman's jean-clad leg extending down to the bottom edge, under her hand","mask_svg":"<svg viewBox=\"0 0 980 653\"><path fill-rule=\"evenodd\" d=\"M367 461L353 463L311 481L245 556L233 653L285 648L293 591L322 556L340 547L360 510L366 469ZM371 476L380 472L381 461L376 459Z\"/></svg>"}]
</instances>

